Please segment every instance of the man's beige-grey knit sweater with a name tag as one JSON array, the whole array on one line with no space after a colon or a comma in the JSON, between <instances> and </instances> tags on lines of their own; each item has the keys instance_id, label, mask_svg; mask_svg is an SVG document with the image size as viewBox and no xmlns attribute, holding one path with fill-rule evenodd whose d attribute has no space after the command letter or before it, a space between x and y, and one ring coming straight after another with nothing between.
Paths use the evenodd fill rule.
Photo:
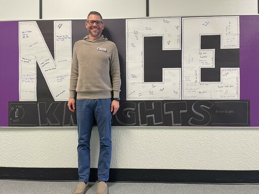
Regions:
<instances>
[{"instance_id":1,"label":"man's beige-grey knit sweater with a name tag","mask_svg":"<svg viewBox=\"0 0 259 194\"><path fill-rule=\"evenodd\" d=\"M120 69L116 45L103 35L97 40L85 36L75 42L69 98L119 98ZM111 95L113 91L113 96Z\"/></svg>"}]
</instances>

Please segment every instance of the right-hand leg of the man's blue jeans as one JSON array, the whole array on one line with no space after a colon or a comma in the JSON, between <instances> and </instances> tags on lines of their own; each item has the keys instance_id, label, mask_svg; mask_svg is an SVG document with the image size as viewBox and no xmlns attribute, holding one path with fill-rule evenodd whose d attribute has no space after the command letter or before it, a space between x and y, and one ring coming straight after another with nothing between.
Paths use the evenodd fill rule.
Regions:
<instances>
[{"instance_id":1,"label":"right-hand leg of the man's blue jeans","mask_svg":"<svg viewBox=\"0 0 259 194\"><path fill-rule=\"evenodd\" d=\"M100 137L100 153L98 160L98 180L107 181L109 179L111 163L111 99L99 99L95 107L95 118L97 121Z\"/></svg>"}]
</instances>

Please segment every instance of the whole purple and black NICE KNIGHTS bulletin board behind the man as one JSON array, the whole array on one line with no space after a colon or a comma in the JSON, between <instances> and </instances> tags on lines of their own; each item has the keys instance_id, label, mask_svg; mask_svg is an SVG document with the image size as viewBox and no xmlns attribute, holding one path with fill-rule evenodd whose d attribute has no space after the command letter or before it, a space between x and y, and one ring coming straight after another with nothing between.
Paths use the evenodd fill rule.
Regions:
<instances>
[{"instance_id":1,"label":"whole purple and black NICE KNIGHTS bulletin board behind the man","mask_svg":"<svg viewBox=\"0 0 259 194\"><path fill-rule=\"evenodd\" d=\"M0 22L0 126L76 126L67 101L84 22ZM113 126L259 126L259 16L104 23L121 71Z\"/></svg>"}]
</instances>

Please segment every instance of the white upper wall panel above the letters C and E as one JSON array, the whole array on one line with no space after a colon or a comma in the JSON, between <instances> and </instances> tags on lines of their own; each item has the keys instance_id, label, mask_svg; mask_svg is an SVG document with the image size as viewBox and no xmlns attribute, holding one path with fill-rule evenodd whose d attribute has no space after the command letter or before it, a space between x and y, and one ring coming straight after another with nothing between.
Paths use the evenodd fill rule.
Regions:
<instances>
[{"instance_id":1,"label":"white upper wall panel above the letters C and E","mask_svg":"<svg viewBox=\"0 0 259 194\"><path fill-rule=\"evenodd\" d=\"M149 0L149 16L257 14L257 0Z\"/></svg>"}]
</instances>

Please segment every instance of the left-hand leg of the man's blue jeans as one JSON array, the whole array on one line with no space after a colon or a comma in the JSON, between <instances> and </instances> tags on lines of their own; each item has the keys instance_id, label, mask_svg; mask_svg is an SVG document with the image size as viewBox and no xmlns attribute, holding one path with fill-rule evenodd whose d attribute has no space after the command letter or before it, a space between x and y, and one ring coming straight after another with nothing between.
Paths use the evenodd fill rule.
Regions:
<instances>
[{"instance_id":1,"label":"left-hand leg of the man's blue jeans","mask_svg":"<svg viewBox=\"0 0 259 194\"><path fill-rule=\"evenodd\" d=\"M92 100L76 101L78 175L79 181L82 182L88 182L90 176L90 139L93 116Z\"/></svg>"}]
</instances>

